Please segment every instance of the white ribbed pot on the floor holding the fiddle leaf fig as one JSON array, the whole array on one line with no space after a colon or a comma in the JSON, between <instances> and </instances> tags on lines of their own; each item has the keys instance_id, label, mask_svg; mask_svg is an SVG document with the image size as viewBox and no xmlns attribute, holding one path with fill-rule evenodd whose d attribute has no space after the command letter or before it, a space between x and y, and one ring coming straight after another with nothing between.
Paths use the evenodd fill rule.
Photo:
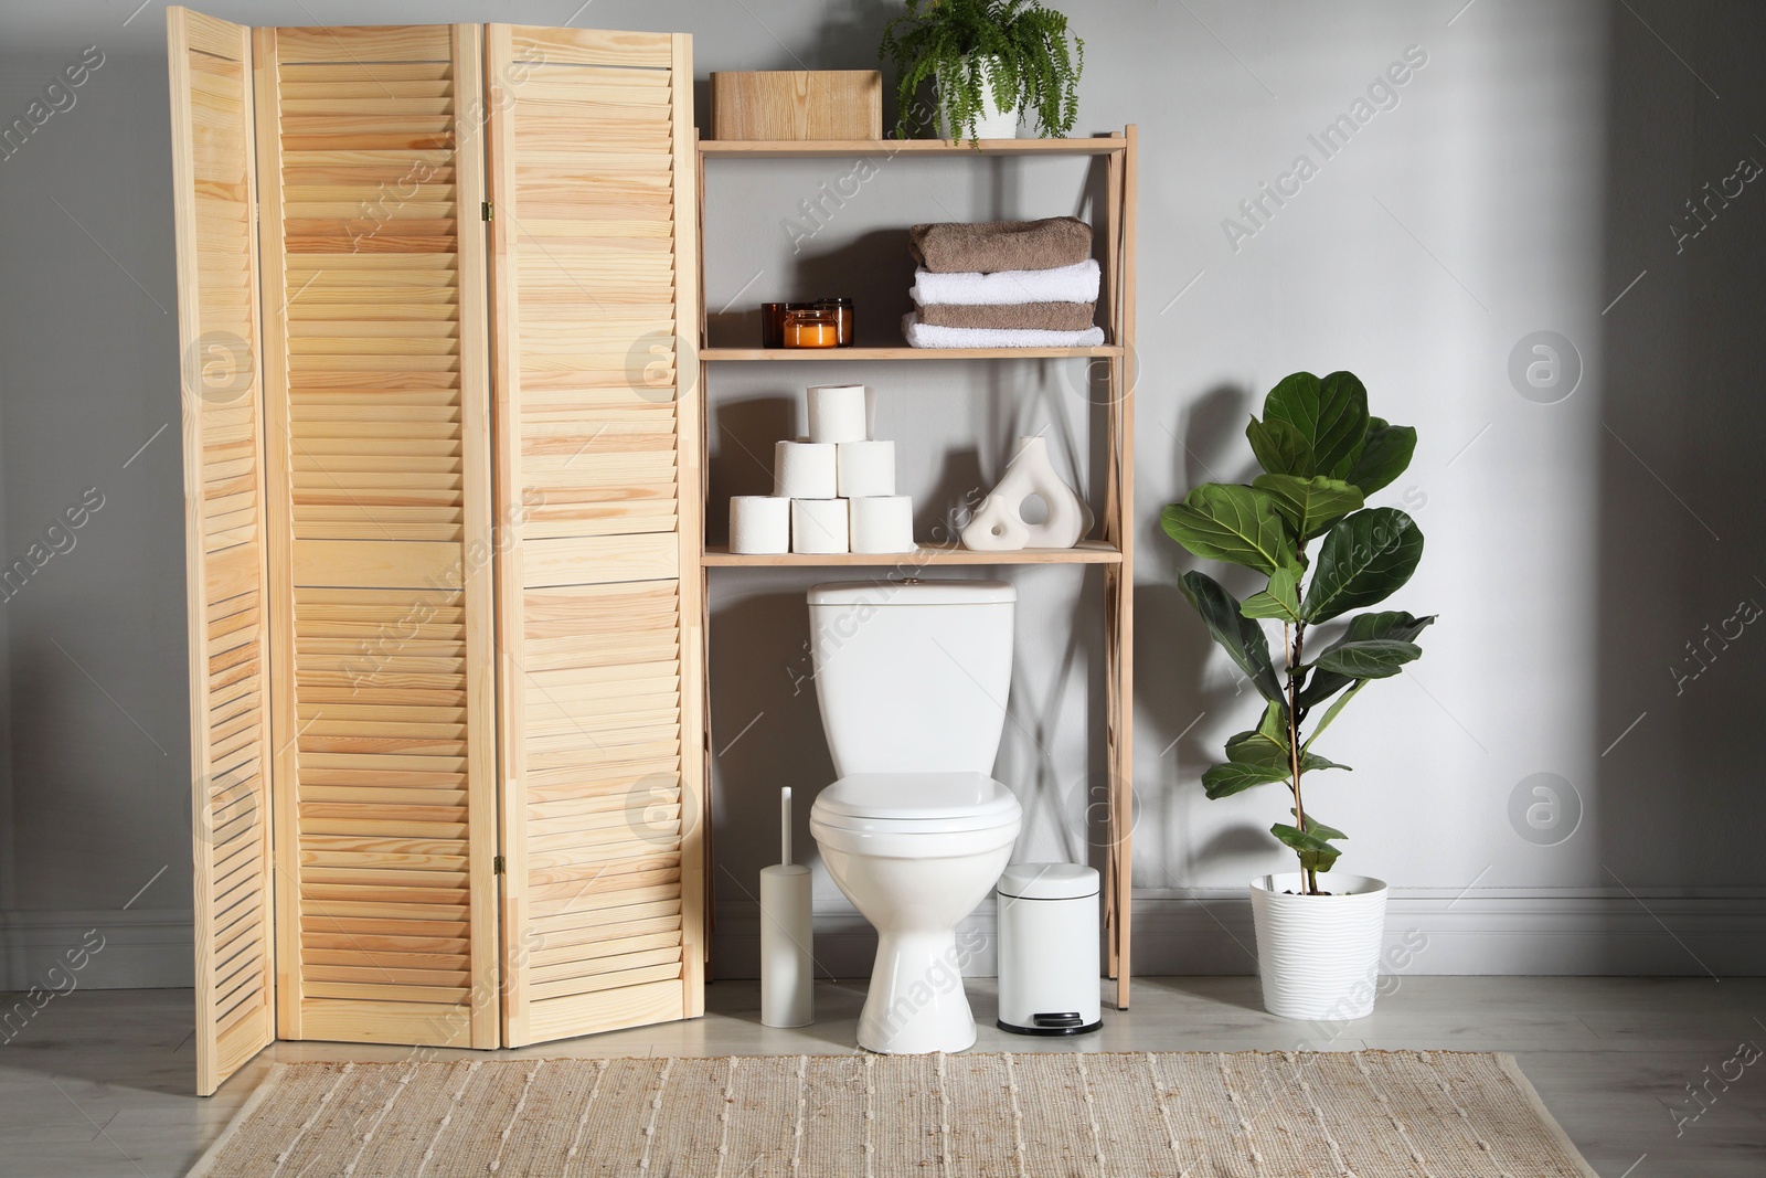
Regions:
<instances>
[{"instance_id":1,"label":"white ribbed pot on the floor holding the fiddle leaf fig","mask_svg":"<svg viewBox=\"0 0 1766 1178\"><path fill-rule=\"evenodd\" d=\"M1284 1019L1340 1023L1374 1012L1386 881L1319 876L1332 895L1302 895L1300 872L1250 881L1263 1008Z\"/></svg>"}]
</instances>

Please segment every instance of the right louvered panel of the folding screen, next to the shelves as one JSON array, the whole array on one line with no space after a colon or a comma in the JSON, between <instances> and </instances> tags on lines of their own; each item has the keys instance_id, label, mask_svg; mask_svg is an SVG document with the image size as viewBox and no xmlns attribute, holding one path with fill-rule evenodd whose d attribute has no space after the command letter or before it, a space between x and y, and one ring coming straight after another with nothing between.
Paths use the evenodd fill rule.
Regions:
<instances>
[{"instance_id":1,"label":"right louvered panel of the folding screen, next to the shelves","mask_svg":"<svg viewBox=\"0 0 1766 1178\"><path fill-rule=\"evenodd\" d=\"M687 37L505 25L486 65L503 1008L528 1044L701 1012L692 69Z\"/></svg>"}]
</instances>

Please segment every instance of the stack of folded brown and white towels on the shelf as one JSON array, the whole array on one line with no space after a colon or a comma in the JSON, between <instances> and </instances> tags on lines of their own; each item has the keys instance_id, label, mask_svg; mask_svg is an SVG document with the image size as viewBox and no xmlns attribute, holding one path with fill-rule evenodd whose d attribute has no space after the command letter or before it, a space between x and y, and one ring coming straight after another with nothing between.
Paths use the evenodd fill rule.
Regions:
<instances>
[{"instance_id":1,"label":"stack of folded brown and white towels on the shelf","mask_svg":"<svg viewBox=\"0 0 1766 1178\"><path fill-rule=\"evenodd\" d=\"M1104 343L1091 226L1077 217L917 224L908 247L913 348L1077 348Z\"/></svg>"}]
</instances>

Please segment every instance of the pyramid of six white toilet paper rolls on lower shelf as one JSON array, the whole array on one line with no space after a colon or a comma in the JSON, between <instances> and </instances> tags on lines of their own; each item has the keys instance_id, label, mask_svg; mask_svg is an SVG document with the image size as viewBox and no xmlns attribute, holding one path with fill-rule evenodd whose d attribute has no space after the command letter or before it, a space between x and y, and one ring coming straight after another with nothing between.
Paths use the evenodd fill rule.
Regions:
<instances>
[{"instance_id":1,"label":"pyramid of six white toilet paper rolls on lower shelf","mask_svg":"<svg viewBox=\"0 0 1766 1178\"><path fill-rule=\"evenodd\" d=\"M913 500L895 495L895 443L871 436L864 385L809 390L809 438L774 450L774 493L729 500L731 553L911 553Z\"/></svg>"}]
</instances>

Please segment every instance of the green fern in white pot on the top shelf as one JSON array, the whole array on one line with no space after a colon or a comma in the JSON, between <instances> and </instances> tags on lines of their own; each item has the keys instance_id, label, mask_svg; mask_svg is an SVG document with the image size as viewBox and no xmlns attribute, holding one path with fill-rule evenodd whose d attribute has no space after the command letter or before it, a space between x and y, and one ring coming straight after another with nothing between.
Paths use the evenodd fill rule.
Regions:
<instances>
[{"instance_id":1,"label":"green fern in white pot on the top shelf","mask_svg":"<svg viewBox=\"0 0 1766 1178\"><path fill-rule=\"evenodd\" d=\"M908 0L883 26L878 57L895 62L895 136L934 124L947 140L1010 140L1033 120L1060 138L1079 117L1086 42L1038 0ZM936 104L918 101L932 83Z\"/></svg>"}]
</instances>

